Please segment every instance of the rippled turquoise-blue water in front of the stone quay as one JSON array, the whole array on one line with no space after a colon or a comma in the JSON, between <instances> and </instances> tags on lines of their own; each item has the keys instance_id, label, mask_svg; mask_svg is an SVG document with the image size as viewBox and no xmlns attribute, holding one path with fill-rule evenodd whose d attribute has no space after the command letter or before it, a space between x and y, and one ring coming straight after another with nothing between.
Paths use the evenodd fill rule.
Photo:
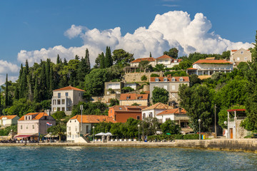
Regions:
<instances>
[{"instance_id":1,"label":"rippled turquoise-blue water in front of the stone quay","mask_svg":"<svg viewBox=\"0 0 257 171\"><path fill-rule=\"evenodd\" d=\"M257 154L133 147L0 147L0 170L257 170Z\"/></svg>"}]
</instances>

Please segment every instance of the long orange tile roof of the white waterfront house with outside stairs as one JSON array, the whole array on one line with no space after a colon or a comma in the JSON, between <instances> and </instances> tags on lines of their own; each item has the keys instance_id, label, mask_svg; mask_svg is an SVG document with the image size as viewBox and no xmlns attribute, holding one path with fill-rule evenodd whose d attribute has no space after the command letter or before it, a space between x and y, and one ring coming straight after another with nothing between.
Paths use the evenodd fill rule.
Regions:
<instances>
[{"instance_id":1,"label":"long orange tile roof of the white waterfront house with outside stairs","mask_svg":"<svg viewBox=\"0 0 257 171\"><path fill-rule=\"evenodd\" d=\"M81 115L76 115L70 120L78 120L81 123ZM82 115L82 123L100 123L100 122L111 122L116 123L116 121L109 117L108 115Z\"/></svg>"}]
</instances>

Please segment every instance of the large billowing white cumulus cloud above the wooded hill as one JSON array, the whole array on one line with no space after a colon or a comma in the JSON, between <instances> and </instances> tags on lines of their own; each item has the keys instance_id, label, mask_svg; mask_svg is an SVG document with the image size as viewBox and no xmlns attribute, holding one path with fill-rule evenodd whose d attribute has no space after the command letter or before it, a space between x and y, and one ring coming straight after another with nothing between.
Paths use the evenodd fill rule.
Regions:
<instances>
[{"instance_id":1,"label":"large billowing white cumulus cloud above the wooded hill","mask_svg":"<svg viewBox=\"0 0 257 171\"><path fill-rule=\"evenodd\" d=\"M134 33L126 33L121 36L121 28L111 28L100 31L97 28L88 29L86 26L72 25L64 35L68 38L80 37L84 45L81 47L64 48L41 48L36 51L22 50L18 54L18 61L29 63L40 62L41 59L51 58L56 61L59 54L67 60L75 55L84 56L86 48L89 48L91 64L94 65L95 58L106 46L111 46L114 51L117 48L124 48L125 51L134 53L135 58L161 56L163 51L176 47L179 55L186 55L193 52L200 53L222 53L223 51L250 48L251 43L231 42L221 38L218 34L210 32L211 21L201 13L196 14L193 19L184 11L169 11L165 14L157 14L153 22L146 27L137 28Z\"/></svg>"}]
</instances>

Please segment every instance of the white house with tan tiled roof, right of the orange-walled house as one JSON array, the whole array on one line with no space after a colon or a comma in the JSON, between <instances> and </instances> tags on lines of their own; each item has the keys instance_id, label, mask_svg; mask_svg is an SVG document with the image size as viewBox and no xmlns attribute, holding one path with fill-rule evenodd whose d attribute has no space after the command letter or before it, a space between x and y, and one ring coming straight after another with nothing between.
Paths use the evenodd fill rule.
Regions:
<instances>
[{"instance_id":1,"label":"white house with tan tiled roof, right of the orange-walled house","mask_svg":"<svg viewBox=\"0 0 257 171\"><path fill-rule=\"evenodd\" d=\"M156 103L154 105L149 106L148 108L144 108L142 110L142 120L148 117L156 118L158 113L161 113L167 109L171 109L171 106L165 105L163 103Z\"/></svg>"}]
</instances>

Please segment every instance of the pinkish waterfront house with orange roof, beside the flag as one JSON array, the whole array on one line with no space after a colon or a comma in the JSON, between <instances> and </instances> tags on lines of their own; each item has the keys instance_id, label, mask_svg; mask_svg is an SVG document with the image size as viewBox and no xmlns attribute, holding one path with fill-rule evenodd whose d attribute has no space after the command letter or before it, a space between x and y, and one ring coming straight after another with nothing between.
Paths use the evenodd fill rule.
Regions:
<instances>
[{"instance_id":1,"label":"pinkish waterfront house with orange roof, beside the flag","mask_svg":"<svg viewBox=\"0 0 257 171\"><path fill-rule=\"evenodd\" d=\"M44 135L51 127L46 123L54 126L56 120L47 113L28 113L18 120L18 135Z\"/></svg>"}]
</instances>

